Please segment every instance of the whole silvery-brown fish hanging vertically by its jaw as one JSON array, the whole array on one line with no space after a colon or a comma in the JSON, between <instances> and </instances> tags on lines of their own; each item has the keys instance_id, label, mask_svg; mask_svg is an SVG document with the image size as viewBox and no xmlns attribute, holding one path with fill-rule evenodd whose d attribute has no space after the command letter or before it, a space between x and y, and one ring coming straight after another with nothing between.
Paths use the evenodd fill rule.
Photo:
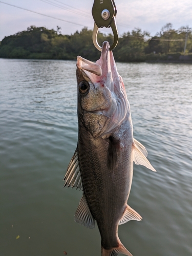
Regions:
<instances>
[{"instance_id":1,"label":"whole silvery-brown fish hanging vertically by its jaw","mask_svg":"<svg viewBox=\"0 0 192 256\"><path fill-rule=\"evenodd\" d=\"M129 205L133 162L156 172L146 148L133 137L130 104L109 42L99 60L77 56L78 142L64 177L67 187L82 190L75 221L97 223L101 255L131 256L118 237L118 226L142 217Z\"/></svg>"}]
</instances>

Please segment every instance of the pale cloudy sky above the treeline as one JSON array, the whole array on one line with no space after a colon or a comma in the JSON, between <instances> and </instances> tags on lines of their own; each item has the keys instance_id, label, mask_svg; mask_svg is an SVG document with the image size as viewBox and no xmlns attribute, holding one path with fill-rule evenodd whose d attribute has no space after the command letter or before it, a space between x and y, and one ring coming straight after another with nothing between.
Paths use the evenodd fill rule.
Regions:
<instances>
[{"instance_id":1,"label":"pale cloudy sky above the treeline","mask_svg":"<svg viewBox=\"0 0 192 256\"><path fill-rule=\"evenodd\" d=\"M18 9L2 2L67 22ZM31 25L55 30L59 26L62 34L69 35L77 30L80 31L83 27L93 29L94 20L91 14L93 2L94 0L0 0L0 41L5 36L27 30ZM191 0L115 0L115 4L119 35L140 28L153 36L167 23L172 23L174 29L187 25L192 27ZM112 32L111 29L106 28L99 31Z\"/></svg>"}]
</instances>

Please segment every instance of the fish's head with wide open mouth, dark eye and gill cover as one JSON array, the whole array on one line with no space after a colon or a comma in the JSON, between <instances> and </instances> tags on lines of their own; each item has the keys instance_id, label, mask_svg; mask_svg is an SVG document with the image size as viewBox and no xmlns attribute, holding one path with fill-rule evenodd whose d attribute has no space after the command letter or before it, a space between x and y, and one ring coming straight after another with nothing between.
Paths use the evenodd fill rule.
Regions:
<instances>
[{"instance_id":1,"label":"fish's head with wide open mouth, dark eye and gill cover","mask_svg":"<svg viewBox=\"0 0 192 256\"><path fill-rule=\"evenodd\" d=\"M77 57L78 116L94 138L108 136L128 111L123 80L117 72L109 42L96 63Z\"/></svg>"}]
</instances>

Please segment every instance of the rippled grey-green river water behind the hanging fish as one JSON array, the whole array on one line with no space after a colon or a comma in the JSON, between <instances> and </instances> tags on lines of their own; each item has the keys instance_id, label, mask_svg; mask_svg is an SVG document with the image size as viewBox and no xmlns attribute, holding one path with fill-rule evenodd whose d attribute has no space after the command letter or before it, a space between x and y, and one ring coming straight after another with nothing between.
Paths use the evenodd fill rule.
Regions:
<instances>
[{"instance_id":1,"label":"rippled grey-green river water behind the hanging fish","mask_svg":"<svg viewBox=\"0 0 192 256\"><path fill-rule=\"evenodd\" d=\"M192 66L117 67L134 137L157 169L134 165L129 205L143 220L119 226L119 238L134 256L192 255ZM82 193L62 188L77 144L75 70L0 59L1 256L100 255L98 228L73 219Z\"/></svg>"}]
</instances>

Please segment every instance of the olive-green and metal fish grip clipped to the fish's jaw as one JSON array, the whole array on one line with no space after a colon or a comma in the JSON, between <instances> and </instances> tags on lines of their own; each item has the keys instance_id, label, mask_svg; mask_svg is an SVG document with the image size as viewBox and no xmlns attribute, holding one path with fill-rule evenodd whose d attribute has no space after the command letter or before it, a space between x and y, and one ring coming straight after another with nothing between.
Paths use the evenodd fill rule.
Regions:
<instances>
[{"instance_id":1,"label":"olive-green and metal fish grip clipped to the fish's jaw","mask_svg":"<svg viewBox=\"0 0 192 256\"><path fill-rule=\"evenodd\" d=\"M97 41L97 34L99 28L112 28L114 41L113 45L110 47L112 51L118 43L118 31L116 26L117 9L114 0L94 0L92 15L95 21L93 28L93 44L99 50L102 51L102 47L99 46Z\"/></svg>"}]
</instances>

